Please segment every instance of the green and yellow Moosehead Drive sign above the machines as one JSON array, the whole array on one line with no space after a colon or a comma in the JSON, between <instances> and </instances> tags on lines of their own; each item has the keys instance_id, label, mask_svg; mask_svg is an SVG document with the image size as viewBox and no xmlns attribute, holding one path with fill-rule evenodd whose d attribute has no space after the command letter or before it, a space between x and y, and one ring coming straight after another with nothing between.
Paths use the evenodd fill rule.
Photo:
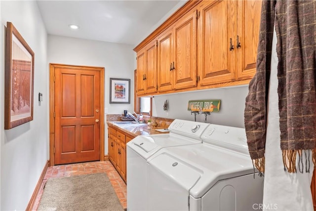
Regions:
<instances>
[{"instance_id":1,"label":"green and yellow Moosehead Drive sign above the machines","mask_svg":"<svg viewBox=\"0 0 316 211\"><path fill-rule=\"evenodd\" d=\"M219 112L221 100L189 100L188 111Z\"/></svg>"}]
</instances>

